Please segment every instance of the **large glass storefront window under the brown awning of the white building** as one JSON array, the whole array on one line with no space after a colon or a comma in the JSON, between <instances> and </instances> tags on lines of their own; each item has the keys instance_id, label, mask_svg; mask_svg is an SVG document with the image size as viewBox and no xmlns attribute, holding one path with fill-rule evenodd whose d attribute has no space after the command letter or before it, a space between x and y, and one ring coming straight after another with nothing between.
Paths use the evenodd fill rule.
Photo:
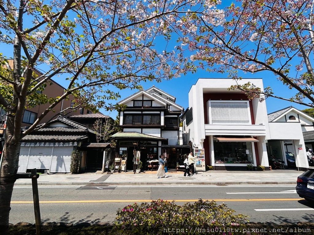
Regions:
<instances>
[{"instance_id":1,"label":"large glass storefront window under the brown awning of the white building","mask_svg":"<svg viewBox=\"0 0 314 235\"><path fill-rule=\"evenodd\" d=\"M253 163L251 142L214 141L215 163Z\"/></svg>"}]
</instances>

